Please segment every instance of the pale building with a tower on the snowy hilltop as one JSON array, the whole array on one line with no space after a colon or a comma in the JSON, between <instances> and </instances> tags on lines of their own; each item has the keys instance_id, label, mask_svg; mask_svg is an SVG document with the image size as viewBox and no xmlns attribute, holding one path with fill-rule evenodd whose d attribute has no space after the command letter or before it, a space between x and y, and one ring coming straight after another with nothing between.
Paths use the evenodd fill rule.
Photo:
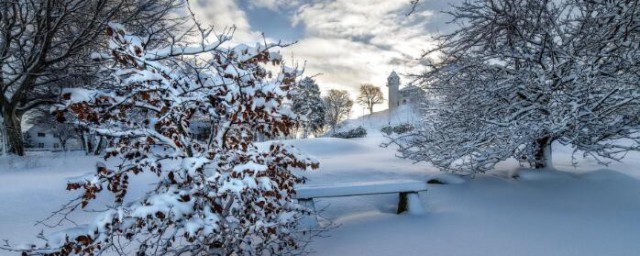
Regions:
<instances>
[{"instance_id":1,"label":"pale building with a tower on the snowy hilltop","mask_svg":"<svg viewBox=\"0 0 640 256\"><path fill-rule=\"evenodd\" d=\"M400 105L416 104L425 100L425 93L420 87L409 84L400 89L400 77L395 71L392 71L387 78L387 87L389 87L389 110L394 110Z\"/></svg>"}]
</instances>

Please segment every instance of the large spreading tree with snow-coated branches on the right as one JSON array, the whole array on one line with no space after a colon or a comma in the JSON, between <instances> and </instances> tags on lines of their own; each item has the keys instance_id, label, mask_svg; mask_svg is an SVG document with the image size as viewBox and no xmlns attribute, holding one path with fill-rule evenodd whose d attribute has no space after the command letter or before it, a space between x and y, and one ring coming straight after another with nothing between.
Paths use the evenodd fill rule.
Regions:
<instances>
[{"instance_id":1,"label":"large spreading tree with snow-coated branches on the right","mask_svg":"<svg viewBox=\"0 0 640 256\"><path fill-rule=\"evenodd\" d=\"M402 157L475 173L514 157L551 167L551 144L601 163L640 149L636 1L466 1L461 28L420 76L440 106L395 139Z\"/></svg>"}]
</instances>

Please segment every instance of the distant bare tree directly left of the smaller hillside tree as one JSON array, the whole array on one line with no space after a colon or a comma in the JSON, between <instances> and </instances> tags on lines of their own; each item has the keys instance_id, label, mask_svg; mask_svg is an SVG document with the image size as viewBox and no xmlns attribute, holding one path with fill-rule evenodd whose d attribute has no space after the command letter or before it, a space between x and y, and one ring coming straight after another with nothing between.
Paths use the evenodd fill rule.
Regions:
<instances>
[{"instance_id":1,"label":"distant bare tree directly left of the smaller hillside tree","mask_svg":"<svg viewBox=\"0 0 640 256\"><path fill-rule=\"evenodd\" d=\"M322 98L324 102L325 113L327 117L325 122L335 131L336 126L342 120L347 119L351 114L353 100L349 96L349 92L345 90L329 90L327 96Z\"/></svg>"}]
</instances>

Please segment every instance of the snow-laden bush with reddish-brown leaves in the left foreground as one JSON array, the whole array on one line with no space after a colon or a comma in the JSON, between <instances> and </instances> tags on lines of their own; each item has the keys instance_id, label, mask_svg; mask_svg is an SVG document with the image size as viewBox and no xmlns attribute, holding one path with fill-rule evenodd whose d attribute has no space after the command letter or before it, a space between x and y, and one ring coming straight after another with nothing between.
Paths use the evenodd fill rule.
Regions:
<instances>
[{"instance_id":1,"label":"snow-laden bush with reddish-brown leaves in the left foreground","mask_svg":"<svg viewBox=\"0 0 640 256\"><path fill-rule=\"evenodd\" d=\"M85 209L99 193L113 202L95 221L48 239L27 254L122 253L138 255L281 255L295 253L297 220L306 210L292 196L303 178L293 169L318 163L295 148L253 144L259 135L286 135L297 117L286 107L300 75L280 65L279 44L223 47L232 31L213 44L174 43L145 49L141 37L111 24L107 74L111 90L69 89L55 111L77 116L81 125L109 139L95 174L69 181L82 195L58 212ZM203 33L203 35L206 33ZM203 40L203 42L205 42ZM206 60L206 61L203 61ZM210 124L196 139L189 124ZM141 198L127 198L129 180L157 175ZM69 210L70 209L70 210ZM125 242L126 241L126 242ZM131 249L131 246L134 248Z\"/></svg>"}]
</instances>

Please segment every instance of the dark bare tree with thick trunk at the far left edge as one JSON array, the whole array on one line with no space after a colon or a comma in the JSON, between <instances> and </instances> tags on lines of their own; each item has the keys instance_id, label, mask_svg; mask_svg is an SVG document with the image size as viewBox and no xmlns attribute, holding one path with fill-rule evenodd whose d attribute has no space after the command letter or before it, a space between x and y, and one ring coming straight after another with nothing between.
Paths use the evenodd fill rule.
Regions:
<instances>
[{"instance_id":1,"label":"dark bare tree with thick trunk at the far left edge","mask_svg":"<svg viewBox=\"0 0 640 256\"><path fill-rule=\"evenodd\" d=\"M23 155L23 115L58 96L50 84L87 78L86 56L113 19L160 36L178 0L0 0L0 112L10 153Z\"/></svg>"}]
</instances>

